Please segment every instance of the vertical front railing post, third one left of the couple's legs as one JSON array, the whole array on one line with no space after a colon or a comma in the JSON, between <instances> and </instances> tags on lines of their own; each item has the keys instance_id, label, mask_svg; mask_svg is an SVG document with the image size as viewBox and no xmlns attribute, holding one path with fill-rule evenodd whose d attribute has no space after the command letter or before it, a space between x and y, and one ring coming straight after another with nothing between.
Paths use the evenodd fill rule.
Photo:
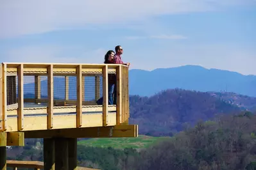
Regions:
<instances>
[{"instance_id":1,"label":"vertical front railing post, third one left of the couple's legs","mask_svg":"<svg viewBox=\"0 0 256 170\"><path fill-rule=\"evenodd\" d=\"M47 129L53 128L53 65L49 65L47 68Z\"/></svg>"}]
</instances>

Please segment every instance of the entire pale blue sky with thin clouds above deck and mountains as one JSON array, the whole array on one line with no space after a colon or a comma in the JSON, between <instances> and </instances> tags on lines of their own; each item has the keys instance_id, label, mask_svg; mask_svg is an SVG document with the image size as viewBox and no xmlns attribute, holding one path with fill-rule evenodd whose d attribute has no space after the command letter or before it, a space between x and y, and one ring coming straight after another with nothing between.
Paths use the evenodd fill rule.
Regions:
<instances>
[{"instance_id":1,"label":"entire pale blue sky with thin clouds above deck and mountains","mask_svg":"<svg viewBox=\"0 0 256 170\"><path fill-rule=\"evenodd\" d=\"M76 2L76 3L74 3ZM255 0L1 1L1 62L201 65L256 75Z\"/></svg>"}]
</instances>

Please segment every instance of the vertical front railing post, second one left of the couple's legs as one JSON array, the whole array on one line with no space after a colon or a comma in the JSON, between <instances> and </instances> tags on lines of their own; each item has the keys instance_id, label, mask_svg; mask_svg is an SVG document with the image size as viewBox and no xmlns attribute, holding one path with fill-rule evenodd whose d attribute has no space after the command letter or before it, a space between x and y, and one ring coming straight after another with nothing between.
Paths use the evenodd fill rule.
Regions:
<instances>
[{"instance_id":1,"label":"vertical front railing post, second one left of the couple's legs","mask_svg":"<svg viewBox=\"0 0 256 170\"><path fill-rule=\"evenodd\" d=\"M83 95L82 95L82 75L81 75L81 65L76 68L76 90L77 90L77 100L76 100L76 127L81 127L82 125L82 104L83 104Z\"/></svg>"}]
</instances>

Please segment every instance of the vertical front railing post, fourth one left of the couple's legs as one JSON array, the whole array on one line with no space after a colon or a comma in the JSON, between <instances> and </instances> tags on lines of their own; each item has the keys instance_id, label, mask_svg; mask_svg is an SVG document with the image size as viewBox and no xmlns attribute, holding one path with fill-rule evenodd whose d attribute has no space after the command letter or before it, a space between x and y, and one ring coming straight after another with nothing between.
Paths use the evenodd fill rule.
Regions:
<instances>
[{"instance_id":1,"label":"vertical front railing post, fourth one left of the couple's legs","mask_svg":"<svg viewBox=\"0 0 256 170\"><path fill-rule=\"evenodd\" d=\"M23 64L18 66L18 130L23 129L23 109L24 109L24 98L23 98Z\"/></svg>"}]
</instances>

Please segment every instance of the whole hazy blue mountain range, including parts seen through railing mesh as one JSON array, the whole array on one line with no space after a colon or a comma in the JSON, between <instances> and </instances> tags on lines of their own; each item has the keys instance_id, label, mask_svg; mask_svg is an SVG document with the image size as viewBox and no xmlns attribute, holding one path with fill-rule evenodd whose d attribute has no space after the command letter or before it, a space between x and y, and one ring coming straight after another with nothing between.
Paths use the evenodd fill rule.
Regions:
<instances>
[{"instance_id":1,"label":"whole hazy blue mountain range, including parts seen through railing mesh","mask_svg":"<svg viewBox=\"0 0 256 170\"><path fill-rule=\"evenodd\" d=\"M30 81L30 80L28 80ZM94 77L85 78L85 100L94 100ZM25 82L24 92L34 94L34 83ZM226 70L206 69L186 65L175 68L158 68L153 71L129 71L130 95L151 96L165 89L188 89L195 91L228 91L256 97L256 76L242 75ZM47 96L47 81L41 82L41 95ZM101 91L102 96L102 79ZM54 77L54 97L65 97L64 77ZM69 98L76 100L76 77L69 78Z\"/></svg>"}]
</instances>

